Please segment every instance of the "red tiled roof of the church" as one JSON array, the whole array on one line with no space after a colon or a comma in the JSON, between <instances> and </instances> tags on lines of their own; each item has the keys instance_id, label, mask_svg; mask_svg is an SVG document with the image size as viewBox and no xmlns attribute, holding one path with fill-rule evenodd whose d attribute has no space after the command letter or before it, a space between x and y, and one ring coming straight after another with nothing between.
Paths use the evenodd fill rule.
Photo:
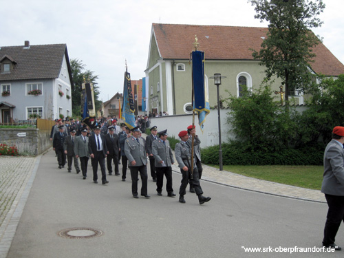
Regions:
<instances>
[{"instance_id":1,"label":"red tiled roof of the church","mask_svg":"<svg viewBox=\"0 0 344 258\"><path fill-rule=\"evenodd\" d=\"M268 28L153 23L153 32L164 59L189 59L197 35L199 50L210 60L253 60L250 49L259 50ZM314 47L311 67L317 74L344 74L344 65L325 45Z\"/></svg>"}]
</instances>

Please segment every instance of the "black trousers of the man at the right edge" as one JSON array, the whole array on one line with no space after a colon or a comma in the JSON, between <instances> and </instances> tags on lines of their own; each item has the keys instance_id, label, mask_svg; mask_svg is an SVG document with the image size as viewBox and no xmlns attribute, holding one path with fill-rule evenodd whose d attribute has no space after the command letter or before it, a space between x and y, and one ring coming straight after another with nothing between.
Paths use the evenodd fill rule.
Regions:
<instances>
[{"instance_id":1,"label":"black trousers of the man at the right edge","mask_svg":"<svg viewBox=\"0 0 344 258\"><path fill-rule=\"evenodd\" d=\"M323 230L323 246L334 244L336 234L341 222L344 222L344 196L327 195L328 205L325 228Z\"/></svg>"}]
</instances>

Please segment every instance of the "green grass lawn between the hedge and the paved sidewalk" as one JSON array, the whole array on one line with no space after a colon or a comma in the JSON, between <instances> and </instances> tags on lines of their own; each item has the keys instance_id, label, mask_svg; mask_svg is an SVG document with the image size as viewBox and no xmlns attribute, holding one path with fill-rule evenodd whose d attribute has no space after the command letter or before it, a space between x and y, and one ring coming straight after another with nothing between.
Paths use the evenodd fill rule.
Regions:
<instances>
[{"instance_id":1,"label":"green grass lawn between the hedge and the paved sidewalk","mask_svg":"<svg viewBox=\"0 0 344 258\"><path fill-rule=\"evenodd\" d=\"M323 181L323 166L224 166L224 170L251 178L316 190L321 189Z\"/></svg>"}]
</instances>

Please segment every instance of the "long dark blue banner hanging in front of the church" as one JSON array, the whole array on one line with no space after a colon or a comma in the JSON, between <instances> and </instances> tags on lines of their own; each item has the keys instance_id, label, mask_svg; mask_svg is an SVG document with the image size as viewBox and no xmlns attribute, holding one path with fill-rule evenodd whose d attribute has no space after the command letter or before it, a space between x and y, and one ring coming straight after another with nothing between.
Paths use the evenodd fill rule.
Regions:
<instances>
[{"instance_id":1,"label":"long dark blue banner hanging in front of the church","mask_svg":"<svg viewBox=\"0 0 344 258\"><path fill-rule=\"evenodd\" d=\"M198 120L203 131L206 116L209 114L208 87L204 83L204 52L193 51L192 78L193 78L193 109L198 114Z\"/></svg>"}]
</instances>

